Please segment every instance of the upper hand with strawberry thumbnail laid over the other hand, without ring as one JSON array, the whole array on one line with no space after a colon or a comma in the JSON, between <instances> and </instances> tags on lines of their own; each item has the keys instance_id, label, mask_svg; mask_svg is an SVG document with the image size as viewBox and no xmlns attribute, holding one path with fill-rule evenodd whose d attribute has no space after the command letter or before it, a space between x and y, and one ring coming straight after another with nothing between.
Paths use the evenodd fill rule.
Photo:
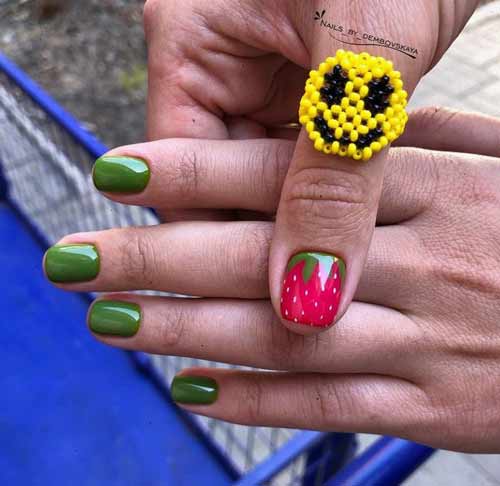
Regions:
<instances>
[{"instance_id":1,"label":"upper hand with strawberry thumbnail laid over the other hand, without ring","mask_svg":"<svg viewBox=\"0 0 500 486\"><path fill-rule=\"evenodd\" d=\"M297 121L308 70L342 47L369 49L391 58L411 93L477 3L190 0L181 8L176 1L149 0L145 6L149 137L273 136L277 126ZM331 36L330 29L314 20L316 10L326 10L328 22L412 46L418 55L412 59L380 46L346 46L337 40L342 36ZM317 332L347 309L372 236L385 159L386 151L368 163L325 156L313 149L304 133L299 136L283 185L269 260L272 302L290 329ZM196 169L193 160L185 161L186 170ZM266 180L261 183L269 185ZM228 217L213 211L164 209L161 214L170 221ZM304 259L304 252L313 255ZM317 261L323 274L330 274L327 288L335 289L335 295L315 290L322 287L321 272L313 271L308 278L307 268ZM292 309L288 301L297 299L293 279L300 277L304 265L309 302L288 313L288 307ZM335 275L338 279L333 282Z\"/></svg>"}]
</instances>

